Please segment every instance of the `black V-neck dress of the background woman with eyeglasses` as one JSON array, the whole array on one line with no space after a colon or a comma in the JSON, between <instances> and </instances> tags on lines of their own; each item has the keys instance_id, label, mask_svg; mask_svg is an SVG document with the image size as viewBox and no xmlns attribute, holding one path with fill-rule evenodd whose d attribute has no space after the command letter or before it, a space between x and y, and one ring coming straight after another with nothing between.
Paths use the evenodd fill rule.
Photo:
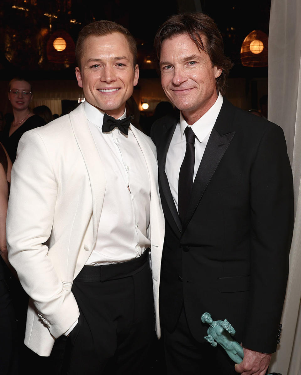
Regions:
<instances>
[{"instance_id":1,"label":"black V-neck dress of the background woman with eyeglasses","mask_svg":"<svg viewBox=\"0 0 301 375\"><path fill-rule=\"evenodd\" d=\"M12 163L16 159L18 143L21 136L28 130L34 129L35 127L43 126L45 124L46 122L43 120L42 117L38 115L33 115L29 117L22 125L20 125L18 129L12 133L11 136L9 136L10 123L6 123L1 135L1 142L3 146L6 148L10 160L12 160Z\"/></svg>"}]
</instances>

